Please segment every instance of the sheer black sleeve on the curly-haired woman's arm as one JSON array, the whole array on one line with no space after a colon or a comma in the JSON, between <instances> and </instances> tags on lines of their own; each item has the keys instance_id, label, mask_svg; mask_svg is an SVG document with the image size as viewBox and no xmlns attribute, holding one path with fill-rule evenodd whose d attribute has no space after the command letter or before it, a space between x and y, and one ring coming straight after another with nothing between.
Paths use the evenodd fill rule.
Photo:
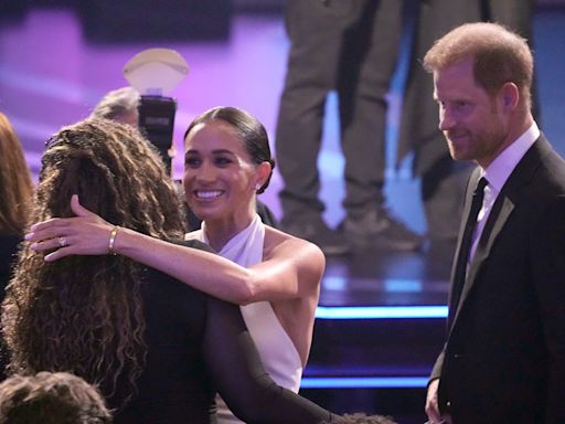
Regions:
<instances>
[{"instance_id":1,"label":"sheer black sleeve on the curly-haired woman's arm","mask_svg":"<svg viewBox=\"0 0 565 424\"><path fill-rule=\"evenodd\" d=\"M220 394L246 423L311 424L337 420L329 411L270 379L235 305L210 298L203 354Z\"/></svg>"}]
</instances>

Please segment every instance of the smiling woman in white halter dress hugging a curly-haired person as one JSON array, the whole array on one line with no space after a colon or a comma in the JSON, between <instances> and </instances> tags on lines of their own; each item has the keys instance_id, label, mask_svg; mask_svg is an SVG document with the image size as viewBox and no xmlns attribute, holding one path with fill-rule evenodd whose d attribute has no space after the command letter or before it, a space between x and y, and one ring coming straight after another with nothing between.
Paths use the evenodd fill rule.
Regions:
<instances>
[{"instance_id":1,"label":"smiling woman in white halter dress hugging a curly-haired person","mask_svg":"<svg viewBox=\"0 0 565 424\"><path fill-rule=\"evenodd\" d=\"M38 223L26 239L38 251L55 248L45 261L120 254L242 305L267 372L298 392L324 257L316 245L264 225L256 214L256 195L268 186L273 167L263 125L242 109L216 107L186 130L184 191L203 220L186 239L206 242L218 255L117 227L82 208L77 197L71 200L76 218ZM233 422L218 405L220 422Z\"/></svg>"}]
</instances>

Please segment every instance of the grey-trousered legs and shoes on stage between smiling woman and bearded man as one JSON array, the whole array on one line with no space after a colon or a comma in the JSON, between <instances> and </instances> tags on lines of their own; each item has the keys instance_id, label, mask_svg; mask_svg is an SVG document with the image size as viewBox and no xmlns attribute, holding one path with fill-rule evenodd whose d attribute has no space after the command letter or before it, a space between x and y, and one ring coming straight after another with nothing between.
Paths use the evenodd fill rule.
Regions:
<instances>
[{"instance_id":1,"label":"grey-trousered legs and shoes on stage between smiling woman and bearded man","mask_svg":"<svg viewBox=\"0 0 565 424\"><path fill-rule=\"evenodd\" d=\"M289 0L290 40L276 155L284 187L281 227L327 255L380 247L416 251L422 237L386 206L386 95L402 35L402 0ZM319 199L326 102L335 92L345 160L345 218L330 229Z\"/></svg>"}]
</instances>

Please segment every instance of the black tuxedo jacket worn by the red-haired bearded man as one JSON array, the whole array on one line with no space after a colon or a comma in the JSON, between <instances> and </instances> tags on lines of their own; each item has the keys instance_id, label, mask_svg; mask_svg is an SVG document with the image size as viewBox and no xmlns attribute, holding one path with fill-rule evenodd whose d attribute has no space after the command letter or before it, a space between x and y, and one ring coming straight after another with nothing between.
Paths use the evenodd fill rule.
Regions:
<instances>
[{"instance_id":1,"label":"black tuxedo jacket worn by the red-haired bearded man","mask_svg":"<svg viewBox=\"0 0 565 424\"><path fill-rule=\"evenodd\" d=\"M447 341L431 372L440 411L455 424L565 423L565 161L543 136L499 193L454 287L461 234Z\"/></svg>"}]
</instances>

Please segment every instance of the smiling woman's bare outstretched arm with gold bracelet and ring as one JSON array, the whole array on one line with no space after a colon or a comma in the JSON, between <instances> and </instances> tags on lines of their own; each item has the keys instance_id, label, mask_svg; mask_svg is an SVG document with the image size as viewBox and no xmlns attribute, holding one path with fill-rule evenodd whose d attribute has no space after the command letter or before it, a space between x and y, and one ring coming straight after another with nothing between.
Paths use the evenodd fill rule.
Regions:
<instances>
[{"instance_id":1,"label":"smiling woman's bare outstretched arm with gold bracelet and ring","mask_svg":"<svg viewBox=\"0 0 565 424\"><path fill-rule=\"evenodd\" d=\"M45 261L68 255L108 254L114 225L81 206L73 195L76 218L52 219L32 226L26 240L38 252L56 251ZM67 245L60 246L60 237ZM223 300L245 305L259 300L281 300L317 293L324 267L323 254L315 245L289 239L270 258L249 268L221 256L168 243L132 230L118 230L114 251L159 269L188 285Z\"/></svg>"}]
</instances>

